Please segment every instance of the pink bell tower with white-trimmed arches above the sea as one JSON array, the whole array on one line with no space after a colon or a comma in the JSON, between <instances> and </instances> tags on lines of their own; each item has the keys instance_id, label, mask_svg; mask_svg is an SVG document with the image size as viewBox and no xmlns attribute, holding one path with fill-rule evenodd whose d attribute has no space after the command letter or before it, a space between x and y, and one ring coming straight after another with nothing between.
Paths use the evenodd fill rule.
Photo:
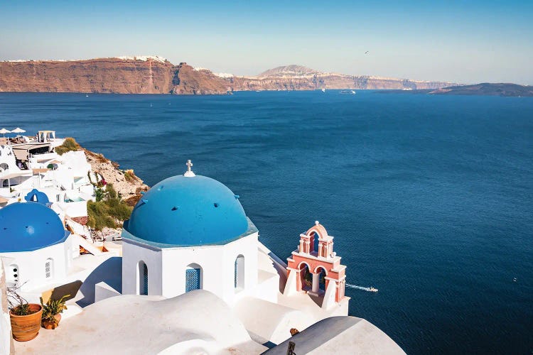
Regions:
<instances>
[{"instance_id":1,"label":"pink bell tower with white-trimmed arches above the sea","mask_svg":"<svg viewBox=\"0 0 533 355\"><path fill-rule=\"evenodd\" d=\"M345 270L340 256L333 251L333 236L316 221L306 233L300 234L298 249L287 258L284 295L305 292L323 297L323 308L331 307L348 298L344 295ZM308 280L310 276L312 280Z\"/></svg>"}]
</instances>

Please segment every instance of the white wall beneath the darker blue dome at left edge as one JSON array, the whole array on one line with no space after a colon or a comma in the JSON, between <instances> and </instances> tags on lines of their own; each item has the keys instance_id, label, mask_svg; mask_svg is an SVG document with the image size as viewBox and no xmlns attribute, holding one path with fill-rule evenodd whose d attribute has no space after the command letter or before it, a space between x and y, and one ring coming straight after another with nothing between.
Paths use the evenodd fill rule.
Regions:
<instances>
[{"instance_id":1,"label":"white wall beneath the darker blue dome at left edge","mask_svg":"<svg viewBox=\"0 0 533 355\"><path fill-rule=\"evenodd\" d=\"M70 245L69 238L60 244L47 246L36 251L21 251L17 253L1 253L0 257L6 270L6 281L9 283L13 280L10 271L10 265L17 266L18 285L23 285L24 290L40 288L47 284L57 282L60 278L67 275L67 254ZM47 259L53 260L52 277L47 279L45 275L45 263Z\"/></svg>"}]
</instances>

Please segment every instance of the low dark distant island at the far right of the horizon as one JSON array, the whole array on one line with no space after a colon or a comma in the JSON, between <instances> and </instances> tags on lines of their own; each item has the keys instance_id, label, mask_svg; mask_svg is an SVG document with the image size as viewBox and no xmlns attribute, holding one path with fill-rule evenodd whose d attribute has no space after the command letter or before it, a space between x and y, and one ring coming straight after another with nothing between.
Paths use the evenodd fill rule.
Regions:
<instances>
[{"instance_id":1,"label":"low dark distant island at the far right of the horizon","mask_svg":"<svg viewBox=\"0 0 533 355\"><path fill-rule=\"evenodd\" d=\"M431 94L431 95L478 95L478 96L502 96L502 97L533 97L533 86L510 84L510 83L490 83L461 85L453 87L442 87L439 89L416 89L416 90L389 90L388 93L404 94Z\"/></svg>"}]
</instances>

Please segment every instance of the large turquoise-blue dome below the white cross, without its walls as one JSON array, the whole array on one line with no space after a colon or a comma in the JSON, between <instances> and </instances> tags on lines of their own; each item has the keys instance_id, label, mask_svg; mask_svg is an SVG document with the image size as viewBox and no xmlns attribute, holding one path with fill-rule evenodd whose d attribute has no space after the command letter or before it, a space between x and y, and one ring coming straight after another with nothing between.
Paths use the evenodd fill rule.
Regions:
<instances>
[{"instance_id":1,"label":"large turquoise-blue dome below the white cross, without its walls","mask_svg":"<svg viewBox=\"0 0 533 355\"><path fill-rule=\"evenodd\" d=\"M141 197L124 229L158 244L225 244L248 230L248 219L237 198L217 180L174 176Z\"/></svg>"}]
</instances>

